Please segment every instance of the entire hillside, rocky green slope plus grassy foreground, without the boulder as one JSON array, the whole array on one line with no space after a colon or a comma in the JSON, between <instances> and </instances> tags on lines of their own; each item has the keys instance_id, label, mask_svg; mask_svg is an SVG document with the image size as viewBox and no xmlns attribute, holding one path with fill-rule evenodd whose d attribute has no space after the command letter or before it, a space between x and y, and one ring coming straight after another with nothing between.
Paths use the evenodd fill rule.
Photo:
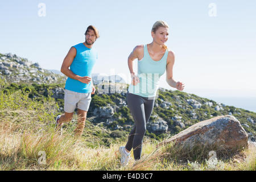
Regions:
<instances>
[{"instance_id":1,"label":"entire hillside, rocky green slope plus grassy foreground, without the boulder","mask_svg":"<svg viewBox=\"0 0 256 182\"><path fill-rule=\"evenodd\" d=\"M125 144L133 126L126 104L127 84L96 84L84 133L77 139L73 137L76 114L72 122L64 125L63 135L54 131L55 117L63 112L66 77L11 54L0 54L0 76L1 170L255 171L253 146L218 155L217 166L206 161L209 151L204 149L194 155L194 151L183 153L172 144L156 148L160 141L199 121L226 114L234 115L249 134L249 140L254 141L256 113L251 111L160 88L147 123L142 160L123 168L119 166L118 147ZM42 154L46 156L43 162L39 160Z\"/></svg>"}]
</instances>

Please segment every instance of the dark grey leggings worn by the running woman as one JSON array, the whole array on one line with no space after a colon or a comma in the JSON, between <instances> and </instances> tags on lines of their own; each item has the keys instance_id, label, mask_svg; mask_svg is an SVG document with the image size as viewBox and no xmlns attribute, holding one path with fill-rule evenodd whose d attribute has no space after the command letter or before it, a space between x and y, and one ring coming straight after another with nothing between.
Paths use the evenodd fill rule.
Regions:
<instances>
[{"instance_id":1,"label":"dark grey leggings worn by the running woman","mask_svg":"<svg viewBox=\"0 0 256 182\"><path fill-rule=\"evenodd\" d=\"M133 115L134 127L130 132L125 148L129 151L133 148L134 159L141 159L142 140L146 133L146 123L155 104L155 98L127 93L126 99L127 106Z\"/></svg>"}]
</instances>

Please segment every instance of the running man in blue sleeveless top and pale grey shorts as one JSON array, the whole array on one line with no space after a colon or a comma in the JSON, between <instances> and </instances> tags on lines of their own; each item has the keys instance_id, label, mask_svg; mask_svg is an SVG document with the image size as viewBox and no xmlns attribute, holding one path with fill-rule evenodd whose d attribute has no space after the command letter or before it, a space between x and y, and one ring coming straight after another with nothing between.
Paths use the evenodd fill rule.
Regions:
<instances>
[{"instance_id":1,"label":"running man in blue sleeveless top and pale grey shorts","mask_svg":"<svg viewBox=\"0 0 256 182\"><path fill-rule=\"evenodd\" d=\"M68 76L68 79L65 84L64 114L57 116L56 130L61 129L64 122L72 120L77 106L76 137L82 135L87 111L92 100L91 94L94 94L96 90L91 73L93 65L98 59L97 52L92 48L97 38L99 38L97 28L90 25L85 31L85 42L72 46L61 66L61 72Z\"/></svg>"}]
</instances>

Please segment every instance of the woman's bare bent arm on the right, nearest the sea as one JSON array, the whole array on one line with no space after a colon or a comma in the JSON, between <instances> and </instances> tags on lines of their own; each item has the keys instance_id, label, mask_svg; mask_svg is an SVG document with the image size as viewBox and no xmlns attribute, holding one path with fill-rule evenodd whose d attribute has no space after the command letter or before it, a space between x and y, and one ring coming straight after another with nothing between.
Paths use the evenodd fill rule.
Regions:
<instances>
[{"instance_id":1,"label":"woman's bare bent arm on the right, nearest the sea","mask_svg":"<svg viewBox=\"0 0 256 182\"><path fill-rule=\"evenodd\" d=\"M168 57L167 57L167 65L166 65L166 82L168 85L170 85L173 88L176 88L178 90L184 89L183 82L175 81L172 75L172 69L174 68L174 62L175 62L175 55L174 52L169 51Z\"/></svg>"}]
</instances>

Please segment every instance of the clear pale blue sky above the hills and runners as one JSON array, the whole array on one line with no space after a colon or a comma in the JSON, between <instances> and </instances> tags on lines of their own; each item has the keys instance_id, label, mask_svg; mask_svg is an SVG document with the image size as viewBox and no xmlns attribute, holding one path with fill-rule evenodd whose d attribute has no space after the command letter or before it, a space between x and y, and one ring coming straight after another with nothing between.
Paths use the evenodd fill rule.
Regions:
<instances>
[{"instance_id":1,"label":"clear pale blue sky above the hills and runners","mask_svg":"<svg viewBox=\"0 0 256 182\"><path fill-rule=\"evenodd\" d=\"M46 16L38 15L39 3L45 3ZM209 15L210 3L216 16ZM184 92L256 98L255 9L254 0L1 1L0 52L60 70L69 48L84 42L86 27L93 24L100 31L93 72L128 75L130 52L152 41L151 27L162 19L170 26L174 79L185 83ZM175 90L165 75L160 86Z\"/></svg>"}]
</instances>

